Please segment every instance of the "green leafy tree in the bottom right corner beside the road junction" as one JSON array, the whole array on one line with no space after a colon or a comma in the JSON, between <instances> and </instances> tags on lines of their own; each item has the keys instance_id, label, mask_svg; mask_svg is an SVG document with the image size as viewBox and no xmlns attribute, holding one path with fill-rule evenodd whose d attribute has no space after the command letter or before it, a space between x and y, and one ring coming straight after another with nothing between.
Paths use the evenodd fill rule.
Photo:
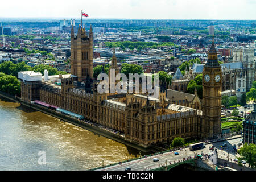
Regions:
<instances>
[{"instance_id":1,"label":"green leafy tree in the bottom right corner beside the road junction","mask_svg":"<svg viewBox=\"0 0 256 182\"><path fill-rule=\"evenodd\" d=\"M243 147L238 150L240 158L238 158L238 163L241 164L242 160L245 160L251 168L256 168L256 145L250 143L249 145L245 143Z\"/></svg>"}]
</instances>

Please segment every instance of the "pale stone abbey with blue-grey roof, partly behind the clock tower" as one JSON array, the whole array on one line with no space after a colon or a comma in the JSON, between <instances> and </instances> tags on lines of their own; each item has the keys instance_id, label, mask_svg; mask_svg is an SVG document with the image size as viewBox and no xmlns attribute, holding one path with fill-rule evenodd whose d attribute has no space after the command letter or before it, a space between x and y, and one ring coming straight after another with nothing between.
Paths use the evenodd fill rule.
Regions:
<instances>
[{"instance_id":1,"label":"pale stone abbey with blue-grey roof, partly behind the clock tower","mask_svg":"<svg viewBox=\"0 0 256 182\"><path fill-rule=\"evenodd\" d=\"M255 80L255 61L253 47L237 47L232 50L233 62L223 63L222 70L222 91L236 90L238 100L241 99L243 93L250 90ZM195 78L196 75L203 72L203 64L193 64L190 77Z\"/></svg>"}]
</instances>

